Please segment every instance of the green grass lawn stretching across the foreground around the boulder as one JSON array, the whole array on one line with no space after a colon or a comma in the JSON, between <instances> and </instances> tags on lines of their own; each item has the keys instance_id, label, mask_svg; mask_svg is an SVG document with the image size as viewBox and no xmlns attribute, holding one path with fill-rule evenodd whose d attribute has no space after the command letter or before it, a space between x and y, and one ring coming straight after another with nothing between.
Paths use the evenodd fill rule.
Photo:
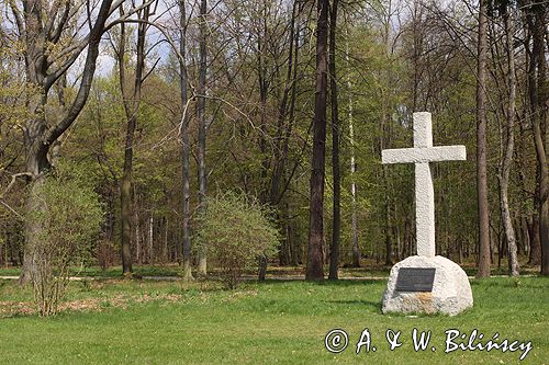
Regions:
<instances>
[{"instance_id":1,"label":"green grass lawn stretching across the foreground around the boulder","mask_svg":"<svg viewBox=\"0 0 549 365\"><path fill-rule=\"evenodd\" d=\"M531 341L524 364L549 364L549 278L473 281L474 308L458 316L383 316L383 281L313 284L85 281L71 283L66 310L29 312L31 293L0 282L1 364L517 364L522 351L445 354L445 331L478 329L484 342ZM14 309L15 308L15 309ZM344 329L349 346L328 353L324 338ZM355 354L365 328L376 352ZM433 331L415 352L412 329ZM402 331L389 350L385 331ZM435 346L436 352L432 351ZM363 351L363 349L362 349Z\"/></svg>"}]
</instances>

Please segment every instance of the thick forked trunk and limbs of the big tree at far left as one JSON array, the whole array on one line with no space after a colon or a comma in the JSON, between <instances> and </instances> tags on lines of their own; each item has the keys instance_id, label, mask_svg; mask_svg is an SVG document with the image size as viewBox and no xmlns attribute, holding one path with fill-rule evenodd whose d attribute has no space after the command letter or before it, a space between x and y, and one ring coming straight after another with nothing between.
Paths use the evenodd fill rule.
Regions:
<instances>
[{"instance_id":1,"label":"thick forked trunk and limbs of the big tree at far left","mask_svg":"<svg viewBox=\"0 0 549 365\"><path fill-rule=\"evenodd\" d=\"M49 20L45 16L57 16L60 14L48 13L42 9L41 1L24 1L23 9L18 8L15 1L10 1L9 5L15 19L15 25L19 28L21 36L20 42L24 45L25 57L25 77L29 84L36 89L35 96L26 103L26 110L32 118L25 123L24 126L24 147L26 155L26 173L29 174L30 194L26 201L26 209L41 209L41 204L36 205L36 201L41 201L40 186L44 182L44 174L51 168L47 155L49 148L56 140L70 127L76 121L80 111L83 109L91 89L91 82L96 72L96 61L99 56L99 45L103 34L104 24L110 15L112 0L104 0L98 7L96 22L90 28L87 36L88 54L86 56L83 73L79 78L80 83L77 94L70 107L64 111L57 122L46 121L45 105L47 104L47 95L52 85L66 73L57 62L52 62L55 54L48 55L52 46L57 46L59 38L52 37L52 30L46 25ZM68 8L70 10L70 7ZM22 16L23 15L23 16ZM52 24L54 24L52 22ZM90 21L91 25L91 21ZM63 20L56 23L59 34L68 28L68 24ZM46 46L47 42L47 46ZM58 49L58 48L57 48ZM63 49L68 50L66 58L61 64L68 61L69 65L74 62L86 48ZM67 60L68 58L68 60ZM71 61L72 60L72 61ZM36 185L36 186L35 186ZM24 243L24 259L23 269L21 271L20 282L27 283L31 280L31 273L35 272L36 252L34 250L36 240L40 239L42 228L36 225L25 225L25 243ZM38 278L40 280L40 278Z\"/></svg>"}]
</instances>

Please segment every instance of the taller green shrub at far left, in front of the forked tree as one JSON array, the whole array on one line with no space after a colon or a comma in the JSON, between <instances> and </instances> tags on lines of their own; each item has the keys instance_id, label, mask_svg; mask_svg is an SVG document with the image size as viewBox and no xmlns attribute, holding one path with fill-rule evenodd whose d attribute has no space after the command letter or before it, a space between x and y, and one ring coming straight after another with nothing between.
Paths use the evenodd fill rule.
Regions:
<instances>
[{"instance_id":1,"label":"taller green shrub at far left, in front of the forked tree","mask_svg":"<svg viewBox=\"0 0 549 365\"><path fill-rule=\"evenodd\" d=\"M27 224L36 231L34 265L30 271L41 316L57 312L72 265L83 265L100 231L103 213L99 196L81 179L48 175L34 186L36 207Z\"/></svg>"}]
</instances>

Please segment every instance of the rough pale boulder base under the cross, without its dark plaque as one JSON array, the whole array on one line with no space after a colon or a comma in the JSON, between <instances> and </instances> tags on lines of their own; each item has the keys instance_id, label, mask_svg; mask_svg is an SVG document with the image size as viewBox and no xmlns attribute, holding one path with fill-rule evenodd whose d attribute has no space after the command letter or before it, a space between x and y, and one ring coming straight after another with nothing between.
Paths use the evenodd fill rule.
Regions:
<instances>
[{"instance_id":1,"label":"rough pale boulder base under the cross, without its dark plaque","mask_svg":"<svg viewBox=\"0 0 549 365\"><path fill-rule=\"evenodd\" d=\"M435 267L433 292L396 292L401 267ZM383 294L383 313L425 312L456 316L473 306L471 285L466 272L455 262L442 258L410 256L391 269Z\"/></svg>"}]
</instances>

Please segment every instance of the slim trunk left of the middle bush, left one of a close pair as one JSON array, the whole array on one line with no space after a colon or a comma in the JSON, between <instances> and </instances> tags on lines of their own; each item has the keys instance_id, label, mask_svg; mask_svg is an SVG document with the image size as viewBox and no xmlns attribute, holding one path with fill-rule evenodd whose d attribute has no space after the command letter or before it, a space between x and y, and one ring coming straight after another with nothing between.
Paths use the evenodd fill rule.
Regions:
<instances>
[{"instance_id":1,"label":"slim trunk left of the middle bush, left one of a close pair","mask_svg":"<svg viewBox=\"0 0 549 365\"><path fill-rule=\"evenodd\" d=\"M188 73L187 73L187 11L184 0L179 1L179 87L181 92L181 182L182 182L182 214L183 224L181 227L183 233L183 281L192 281L191 267L191 232L189 221L191 218L191 191L190 191L190 138L189 138L189 118L187 116L187 109L189 102L188 95Z\"/></svg>"}]
</instances>

